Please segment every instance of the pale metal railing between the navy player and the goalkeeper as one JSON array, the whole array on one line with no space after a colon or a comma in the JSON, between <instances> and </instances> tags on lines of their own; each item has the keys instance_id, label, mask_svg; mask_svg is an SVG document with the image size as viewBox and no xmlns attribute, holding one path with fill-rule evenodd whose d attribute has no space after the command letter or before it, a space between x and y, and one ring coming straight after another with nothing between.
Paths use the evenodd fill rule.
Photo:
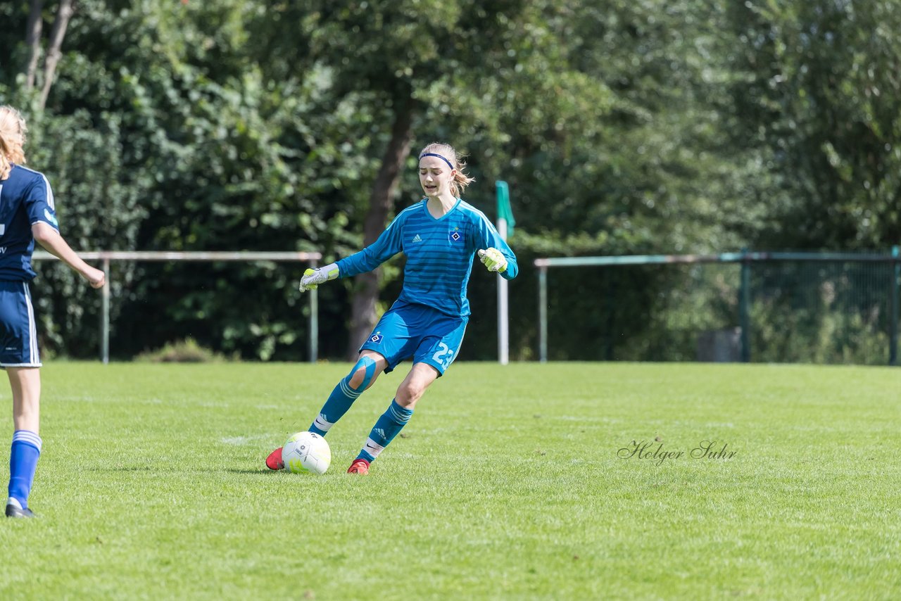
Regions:
<instances>
[{"instance_id":1,"label":"pale metal railing between the navy player and the goalkeeper","mask_svg":"<svg viewBox=\"0 0 901 601\"><path fill-rule=\"evenodd\" d=\"M103 310L100 323L100 359L104 363L110 360L110 261L299 261L307 262L310 267L315 267L316 262L322 260L321 252L252 252L252 251L186 251L168 252L164 250L97 250L79 252L78 256L84 260L99 260L103 263L106 274L106 284L101 294L103 298ZM49 252L36 250L32 255L33 260L55 260L56 257ZM310 362L314 363L319 355L319 305L315 290L310 290L310 338L309 351Z\"/></svg>"}]
</instances>

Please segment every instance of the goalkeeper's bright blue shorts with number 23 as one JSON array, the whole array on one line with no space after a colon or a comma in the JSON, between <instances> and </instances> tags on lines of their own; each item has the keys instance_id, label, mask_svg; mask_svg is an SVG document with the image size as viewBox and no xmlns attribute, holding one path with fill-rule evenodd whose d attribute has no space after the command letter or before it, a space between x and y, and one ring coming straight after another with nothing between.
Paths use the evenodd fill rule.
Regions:
<instances>
[{"instance_id":1,"label":"goalkeeper's bright blue shorts with number 23","mask_svg":"<svg viewBox=\"0 0 901 601\"><path fill-rule=\"evenodd\" d=\"M467 323L469 317L451 317L431 306L395 303L359 350L384 357L386 373L412 357L414 363L431 365L440 378L457 359Z\"/></svg>"}]
</instances>

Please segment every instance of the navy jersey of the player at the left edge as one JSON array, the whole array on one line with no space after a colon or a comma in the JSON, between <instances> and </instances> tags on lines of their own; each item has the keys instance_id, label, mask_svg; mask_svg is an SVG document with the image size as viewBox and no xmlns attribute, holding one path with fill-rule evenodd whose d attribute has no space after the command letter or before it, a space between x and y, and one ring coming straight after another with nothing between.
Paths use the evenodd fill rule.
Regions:
<instances>
[{"instance_id":1,"label":"navy jersey of the player at the left edge","mask_svg":"<svg viewBox=\"0 0 901 601\"><path fill-rule=\"evenodd\" d=\"M42 173L14 165L0 180L0 280L30 280L34 237L32 225L43 222L59 230L53 190Z\"/></svg>"}]
</instances>

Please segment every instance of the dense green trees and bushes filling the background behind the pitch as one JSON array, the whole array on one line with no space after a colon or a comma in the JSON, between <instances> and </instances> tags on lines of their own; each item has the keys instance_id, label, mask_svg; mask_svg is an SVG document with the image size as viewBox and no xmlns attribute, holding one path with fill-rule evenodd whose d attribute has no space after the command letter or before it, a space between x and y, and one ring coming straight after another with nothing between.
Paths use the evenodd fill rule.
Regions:
<instances>
[{"instance_id":1,"label":"dense green trees and bushes filling the background behind the pitch","mask_svg":"<svg viewBox=\"0 0 901 601\"><path fill-rule=\"evenodd\" d=\"M539 256L901 241L898 0L80 0L42 110L24 85L31 4L0 6L0 102L26 113L29 162L77 249L346 256L398 115L414 151L469 153L467 200L489 217L494 181L510 183L514 357L534 353ZM395 211L420 197L406 166ZM190 335L302 359L303 267L116 264L114 356ZM384 270L383 308L400 267ZM40 273L43 348L94 355L96 292L59 265ZM587 273L551 305L558 327L585 322L561 357L605 356L592 332L659 345L673 316L650 300L672 287ZM353 294L321 290L326 356L343 354ZM476 273L470 296L463 357L488 358L492 278Z\"/></svg>"}]
</instances>

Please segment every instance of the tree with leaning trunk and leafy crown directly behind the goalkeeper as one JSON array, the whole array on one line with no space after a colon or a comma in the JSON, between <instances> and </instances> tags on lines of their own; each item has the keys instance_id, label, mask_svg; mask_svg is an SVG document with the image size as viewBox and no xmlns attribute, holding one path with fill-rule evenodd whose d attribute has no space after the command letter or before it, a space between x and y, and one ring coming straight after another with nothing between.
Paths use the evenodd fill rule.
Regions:
<instances>
[{"instance_id":1,"label":"tree with leaning trunk and leafy crown directly behind the goalkeeper","mask_svg":"<svg viewBox=\"0 0 901 601\"><path fill-rule=\"evenodd\" d=\"M511 113L531 106L535 110L530 116L537 121L566 120L550 114L572 108L555 96L567 98L589 88L584 77L557 77L558 69L567 66L552 48L555 40L546 19L556 9L550 2L383 0L366 5L322 2L293 9L296 12L282 8L291 15L283 22L294 27L303 23L309 32L300 36L308 44L302 51L332 69L335 93L358 96L358 105L369 105L364 110L384 119L373 128L384 150L369 195L364 245L375 241L392 213L414 130L423 139L430 136L428 141L452 139L463 145L481 139L490 154L509 140L503 125L516 119ZM526 81L517 82L515 74L523 66ZM535 88L551 96L551 110L539 108L549 98L534 94ZM491 105L495 102L499 106ZM551 129L546 123L535 127L535 134ZM497 152L505 155L510 153ZM378 318L380 287L379 270L358 277L349 356L356 354Z\"/></svg>"}]
</instances>

